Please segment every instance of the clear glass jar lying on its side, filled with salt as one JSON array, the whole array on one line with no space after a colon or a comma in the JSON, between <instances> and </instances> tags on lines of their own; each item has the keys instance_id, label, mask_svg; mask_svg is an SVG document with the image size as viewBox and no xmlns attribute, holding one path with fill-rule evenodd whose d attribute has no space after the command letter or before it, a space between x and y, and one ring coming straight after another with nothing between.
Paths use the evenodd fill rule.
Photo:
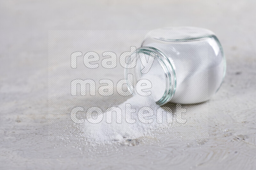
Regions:
<instances>
[{"instance_id":1,"label":"clear glass jar lying on its side, filled with salt","mask_svg":"<svg viewBox=\"0 0 256 170\"><path fill-rule=\"evenodd\" d=\"M138 55L141 52L148 57L150 52L155 52L155 60L147 74L141 73L143 66ZM205 102L218 91L226 72L219 40L212 31L202 28L173 27L150 31L136 55L133 81L151 81L150 91L158 105ZM125 76L129 71L131 73L126 69Z\"/></svg>"}]
</instances>

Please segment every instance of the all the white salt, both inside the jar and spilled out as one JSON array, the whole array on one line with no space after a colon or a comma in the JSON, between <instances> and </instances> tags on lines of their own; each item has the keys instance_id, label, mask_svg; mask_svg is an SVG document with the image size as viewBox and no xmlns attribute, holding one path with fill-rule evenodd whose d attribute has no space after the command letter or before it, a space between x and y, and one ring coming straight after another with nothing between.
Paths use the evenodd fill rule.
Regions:
<instances>
[{"instance_id":1,"label":"all the white salt, both inside the jar and spilled out","mask_svg":"<svg viewBox=\"0 0 256 170\"><path fill-rule=\"evenodd\" d=\"M177 86L170 102L182 104L204 102L220 87L225 65L223 56L218 50L219 46L213 38L207 39L207 43L204 39L179 43L163 43L162 41L160 43L155 39L152 42L151 40L149 39L148 43L145 40L144 45L156 47L163 52L167 58L172 60L172 66L175 69ZM149 89L151 95L140 96L136 94L134 89L134 96L117 106L122 110L121 124L116 123L115 112L112 113L111 124L104 121L99 124L84 123L83 131L88 141L100 144L111 144L115 141L124 142L127 139L136 139L145 135L152 136L152 130L170 125L166 122L166 114L171 113L163 112L163 123L158 124L156 122L156 110L160 107L156 101L164 95L166 87L164 72L156 59L149 72L139 79L151 81L152 88ZM129 124L125 120L126 103L131 104L131 107L136 109L136 112L131 114L132 119L136 119L134 124ZM154 110L154 115L148 117L153 118L153 122L150 124L141 123L138 119L139 109L145 106ZM106 118L106 113L103 117Z\"/></svg>"}]
</instances>

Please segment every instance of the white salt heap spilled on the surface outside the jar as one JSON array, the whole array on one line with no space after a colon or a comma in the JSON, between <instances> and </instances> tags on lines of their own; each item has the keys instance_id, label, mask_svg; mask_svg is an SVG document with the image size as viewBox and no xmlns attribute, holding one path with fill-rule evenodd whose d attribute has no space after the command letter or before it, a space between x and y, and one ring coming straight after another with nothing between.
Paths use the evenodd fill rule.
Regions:
<instances>
[{"instance_id":1,"label":"white salt heap spilled on the surface outside the jar","mask_svg":"<svg viewBox=\"0 0 256 170\"><path fill-rule=\"evenodd\" d=\"M131 108L136 109L135 113L131 113L130 115L128 114L130 118L136 120L136 122L133 124L126 122L125 106L127 104L130 104ZM144 124L140 122L138 118L138 111L140 110L140 108L145 106L152 108L154 111L153 113L154 115L148 117L148 119L149 118L153 119L153 122L149 124ZM162 115L163 119L161 117L161 120L163 120L163 123L162 124L157 123L158 119L156 118L156 110L160 108L160 106L156 104L155 97L153 96L146 97L146 96L135 95L129 98L124 103L118 105L117 107L119 107L122 110L122 123L120 124L116 123L116 112L112 112L111 124L108 124L105 121L102 121L99 124L84 123L83 134L85 135L85 138L87 138L89 142L110 144L115 141L122 142L126 139L135 139L142 136L152 136L153 135L151 133L152 130L159 127L166 127L169 125L166 122L167 121L166 114L170 114L170 113L167 113L166 111L163 111L163 110L162 110L163 112L161 112L163 113ZM103 117L106 117L106 112L103 113ZM145 119L147 119L147 117L145 117Z\"/></svg>"}]
</instances>

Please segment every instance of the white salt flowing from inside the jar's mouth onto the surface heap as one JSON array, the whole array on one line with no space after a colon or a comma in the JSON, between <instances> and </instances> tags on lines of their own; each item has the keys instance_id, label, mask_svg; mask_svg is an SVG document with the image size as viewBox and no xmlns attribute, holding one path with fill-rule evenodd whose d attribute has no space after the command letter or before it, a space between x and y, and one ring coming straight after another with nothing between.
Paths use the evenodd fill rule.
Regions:
<instances>
[{"instance_id":1,"label":"white salt flowing from inside the jar's mouth onto the surface heap","mask_svg":"<svg viewBox=\"0 0 256 170\"><path fill-rule=\"evenodd\" d=\"M147 74L144 74L141 79L147 79L152 83L152 88L148 89L147 91L151 91L150 96L140 96L136 93L136 90L133 89L133 96L129 98L122 104L119 104L116 107L119 107L122 110L122 123L116 122L116 112L112 112L112 123L106 122L106 112L103 113L103 120L99 124L91 124L91 123L84 123L83 124L83 135L90 143L98 143L98 144L111 144L113 142L128 142L134 143L133 140L130 142L127 139L136 139L143 136L153 136L152 131L161 127L167 127L170 125L167 123L167 115L169 122L172 121L170 115L171 112L168 110L163 110L160 108L159 105L156 104L164 94L165 90L165 77L162 71L161 66L155 60L151 69ZM132 113L126 109L127 104L130 104ZM144 114L149 114L150 117L145 117L146 122L150 122L148 124L142 123L141 117L138 117L138 111L142 107L150 107L152 110L150 113L144 111ZM156 117L157 109L160 108L158 111L161 114L158 115L158 119ZM136 109L136 111L134 110ZM135 119L135 123L127 123L126 113L127 110L128 117ZM167 114L167 115L166 115ZM153 115L153 116L151 116ZM145 115L144 115L145 116ZM150 119L150 120L147 120ZM162 123L157 123L161 119ZM134 120L132 120L134 122ZM153 122L152 122L153 121ZM129 121L128 121L129 122ZM152 123L151 123L152 122Z\"/></svg>"}]
</instances>

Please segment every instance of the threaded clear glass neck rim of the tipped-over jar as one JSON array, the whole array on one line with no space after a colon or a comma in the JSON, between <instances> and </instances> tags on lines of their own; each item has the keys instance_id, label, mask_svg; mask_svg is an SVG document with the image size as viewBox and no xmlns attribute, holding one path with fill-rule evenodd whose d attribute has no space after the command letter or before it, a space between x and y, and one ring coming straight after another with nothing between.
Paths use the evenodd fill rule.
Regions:
<instances>
[{"instance_id":1,"label":"threaded clear glass neck rim of the tipped-over jar","mask_svg":"<svg viewBox=\"0 0 256 170\"><path fill-rule=\"evenodd\" d=\"M143 46L136 50L136 53L143 52L145 55L149 55L150 52L155 52L155 59L160 64L163 70L163 74L165 77L165 91L164 95L161 99L156 101L156 104L163 105L171 100L171 98L174 96L175 90L176 90L176 74L174 70L174 65L172 61L170 61L164 53L162 53L160 50L151 47L151 46ZM142 75L142 73L140 73ZM126 76L126 73L125 73ZM133 87L132 87L133 88ZM131 91L131 89L128 88L128 90Z\"/></svg>"}]
</instances>

